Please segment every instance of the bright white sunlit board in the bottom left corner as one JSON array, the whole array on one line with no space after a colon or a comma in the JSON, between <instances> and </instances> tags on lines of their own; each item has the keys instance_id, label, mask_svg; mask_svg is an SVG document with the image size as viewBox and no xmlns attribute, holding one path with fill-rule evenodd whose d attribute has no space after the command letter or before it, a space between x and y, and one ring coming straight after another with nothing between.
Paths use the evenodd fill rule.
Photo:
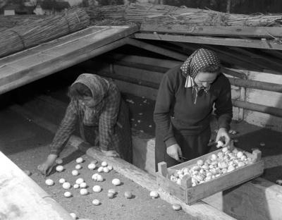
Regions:
<instances>
[{"instance_id":1,"label":"bright white sunlit board in the bottom left corner","mask_svg":"<svg viewBox=\"0 0 282 220\"><path fill-rule=\"evenodd\" d=\"M72 219L65 209L2 152L0 185L0 216L4 219Z\"/></svg>"}]
</instances>

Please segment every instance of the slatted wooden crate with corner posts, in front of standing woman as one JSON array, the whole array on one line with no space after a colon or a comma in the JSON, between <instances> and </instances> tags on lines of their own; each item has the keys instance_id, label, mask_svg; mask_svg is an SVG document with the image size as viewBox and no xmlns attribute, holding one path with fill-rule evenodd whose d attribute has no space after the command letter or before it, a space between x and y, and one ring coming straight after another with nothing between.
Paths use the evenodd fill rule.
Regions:
<instances>
[{"instance_id":1,"label":"slatted wooden crate with corner posts, in front of standing woman","mask_svg":"<svg viewBox=\"0 0 282 220\"><path fill-rule=\"evenodd\" d=\"M221 152L221 149L218 149L209 154L204 154L202 157L186 161L182 164L176 166L171 166L167 168L165 162L158 164L157 172L157 183L160 188L166 190L171 195L178 197L186 204L192 204L198 200L202 200L204 197L209 197L214 193L218 193L228 188L232 188L235 185L239 185L246 181L250 181L252 178L262 175L264 171L264 161L261 159L262 152L258 149L255 149L252 154L245 152L243 149L236 149L242 151L247 157L252 157L253 163L242 166L234 171L229 173L222 174L221 176L207 181L200 185L193 186L191 185L191 178L185 176L181 181L181 185L170 180L170 176L176 170L183 169L184 167L191 168L197 164L199 159L206 160L211 157L212 154L217 154Z\"/></svg>"}]
</instances>

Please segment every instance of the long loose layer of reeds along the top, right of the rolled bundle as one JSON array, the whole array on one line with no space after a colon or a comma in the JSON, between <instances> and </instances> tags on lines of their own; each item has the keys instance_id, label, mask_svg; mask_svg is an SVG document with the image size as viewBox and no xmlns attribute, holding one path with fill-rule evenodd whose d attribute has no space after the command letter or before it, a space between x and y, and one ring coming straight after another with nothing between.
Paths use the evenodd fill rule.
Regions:
<instances>
[{"instance_id":1,"label":"long loose layer of reeds along the top, right of the rolled bundle","mask_svg":"<svg viewBox=\"0 0 282 220\"><path fill-rule=\"evenodd\" d=\"M102 6L89 8L90 18L113 19L134 23L170 23L184 25L238 25L238 26L281 26L282 15L252 16L229 14L197 8L175 7L152 4L130 4L129 6Z\"/></svg>"}]
</instances>

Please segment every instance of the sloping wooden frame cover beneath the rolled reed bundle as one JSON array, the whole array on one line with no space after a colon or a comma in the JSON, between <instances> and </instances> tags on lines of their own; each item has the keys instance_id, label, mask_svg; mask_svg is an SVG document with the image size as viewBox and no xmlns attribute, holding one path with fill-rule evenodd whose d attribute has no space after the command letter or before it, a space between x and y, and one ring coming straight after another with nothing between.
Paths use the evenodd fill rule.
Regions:
<instances>
[{"instance_id":1,"label":"sloping wooden frame cover beneath the rolled reed bundle","mask_svg":"<svg viewBox=\"0 0 282 220\"><path fill-rule=\"evenodd\" d=\"M137 30L137 26L90 27L0 59L0 94L121 47L123 38Z\"/></svg>"}]
</instances>

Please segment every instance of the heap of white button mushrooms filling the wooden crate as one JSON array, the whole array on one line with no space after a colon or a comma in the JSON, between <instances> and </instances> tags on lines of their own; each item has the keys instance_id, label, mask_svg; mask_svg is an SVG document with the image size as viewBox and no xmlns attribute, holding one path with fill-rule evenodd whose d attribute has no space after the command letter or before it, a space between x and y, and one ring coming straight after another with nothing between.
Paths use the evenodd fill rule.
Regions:
<instances>
[{"instance_id":1,"label":"heap of white button mushrooms filling the wooden crate","mask_svg":"<svg viewBox=\"0 0 282 220\"><path fill-rule=\"evenodd\" d=\"M190 175L192 186L211 181L225 173L229 173L247 164L252 164L252 157L247 157L238 149L233 149L231 152L228 147L223 147L222 151L217 154L212 154L205 161L202 159L197 161L192 168L183 168L176 170L171 175L171 181L181 184L184 176Z\"/></svg>"}]
</instances>

